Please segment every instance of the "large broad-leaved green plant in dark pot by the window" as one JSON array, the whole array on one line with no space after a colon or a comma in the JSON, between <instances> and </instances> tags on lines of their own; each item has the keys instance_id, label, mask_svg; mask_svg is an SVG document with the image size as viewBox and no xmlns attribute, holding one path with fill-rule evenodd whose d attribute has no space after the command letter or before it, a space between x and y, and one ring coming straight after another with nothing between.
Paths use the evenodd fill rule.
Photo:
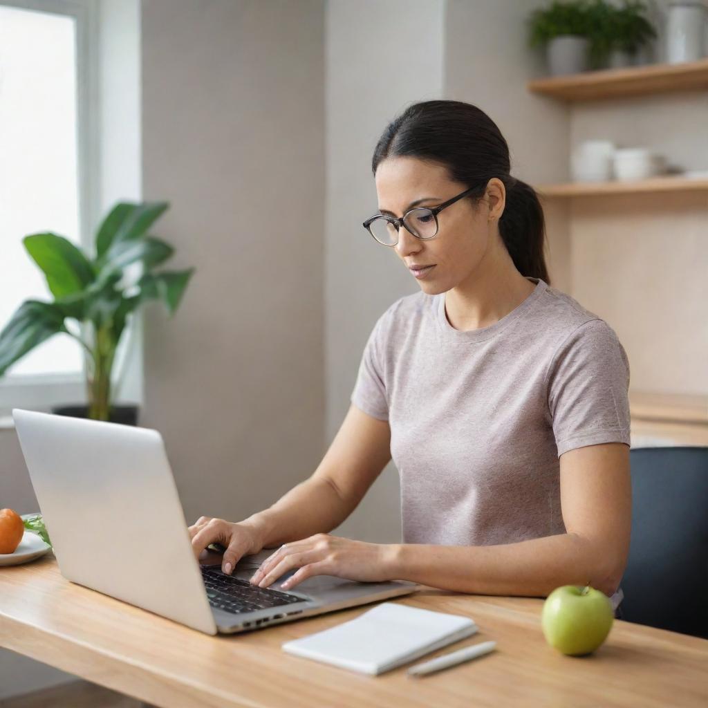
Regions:
<instances>
[{"instance_id":1,"label":"large broad-leaved green plant in dark pot by the window","mask_svg":"<svg viewBox=\"0 0 708 708\"><path fill-rule=\"evenodd\" d=\"M25 236L25 249L45 274L54 300L25 300L0 331L0 376L46 339L67 334L84 350L88 405L55 412L137 424L137 416L128 421L112 405L120 338L132 313L148 300L161 300L173 314L194 272L154 272L174 252L148 235L168 207L167 202L119 202L98 228L93 254L51 232Z\"/></svg>"}]
</instances>

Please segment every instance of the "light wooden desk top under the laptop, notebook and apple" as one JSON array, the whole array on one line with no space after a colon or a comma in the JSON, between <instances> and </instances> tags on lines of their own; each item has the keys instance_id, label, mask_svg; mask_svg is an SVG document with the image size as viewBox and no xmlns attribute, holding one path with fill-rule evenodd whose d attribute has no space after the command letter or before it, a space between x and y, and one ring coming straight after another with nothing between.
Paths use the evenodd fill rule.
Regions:
<instances>
[{"instance_id":1,"label":"light wooden desk top under the laptop, notebook and apple","mask_svg":"<svg viewBox=\"0 0 708 708\"><path fill-rule=\"evenodd\" d=\"M478 634L430 656L488 639L497 649L424 677L407 677L405 666L367 676L290 656L280 645L372 605L209 636L69 583L51 552L0 568L0 646L164 708L708 705L705 639L615 619L595 654L569 657L544 640L542 598L429 588L394 602L479 625Z\"/></svg>"}]
</instances>

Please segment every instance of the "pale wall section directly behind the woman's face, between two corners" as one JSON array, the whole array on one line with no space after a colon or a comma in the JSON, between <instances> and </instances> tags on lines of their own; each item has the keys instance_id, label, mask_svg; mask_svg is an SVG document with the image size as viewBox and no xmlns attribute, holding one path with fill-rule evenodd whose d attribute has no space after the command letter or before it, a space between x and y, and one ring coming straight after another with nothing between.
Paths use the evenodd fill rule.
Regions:
<instances>
[{"instance_id":1,"label":"pale wall section directly behind the woman's face, between two corners","mask_svg":"<svg viewBox=\"0 0 708 708\"><path fill-rule=\"evenodd\" d=\"M418 285L362 222L378 208L371 158L379 135L415 101L442 98L442 0L330 0L326 10L326 440L350 406L377 317ZM424 31L421 31L424 28ZM416 38L415 42L409 41ZM389 462L336 535L401 540L399 477Z\"/></svg>"}]
</instances>

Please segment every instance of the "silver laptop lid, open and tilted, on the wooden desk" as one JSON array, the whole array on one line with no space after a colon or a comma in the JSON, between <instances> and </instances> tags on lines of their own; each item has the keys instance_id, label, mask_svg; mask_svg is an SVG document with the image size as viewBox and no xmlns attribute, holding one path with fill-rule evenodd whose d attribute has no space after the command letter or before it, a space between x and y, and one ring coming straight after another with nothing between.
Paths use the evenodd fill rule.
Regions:
<instances>
[{"instance_id":1,"label":"silver laptop lid, open and tilted, on the wooden desk","mask_svg":"<svg viewBox=\"0 0 708 708\"><path fill-rule=\"evenodd\" d=\"M161 435L12 414L64 578L216 634Z\"/></svg>"}]
</instances>

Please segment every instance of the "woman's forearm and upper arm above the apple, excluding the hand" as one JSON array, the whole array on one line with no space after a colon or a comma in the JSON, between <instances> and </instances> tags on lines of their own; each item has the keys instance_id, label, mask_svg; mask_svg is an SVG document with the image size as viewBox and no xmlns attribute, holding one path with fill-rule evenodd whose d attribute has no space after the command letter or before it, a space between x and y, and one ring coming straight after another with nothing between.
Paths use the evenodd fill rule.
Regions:
<instances>
[{"instance_id":1,"label":"woman's forearm and upper arm above the apple, excluding the hand","mask_svg":"<svg viewBox=\"0 0 708 708\"><path fill-rule=\"evenodd\" d=\"M588 445L561 455L566 533L496 546L399 544L391 579L481 595L547 597L561 585L612 595L629 554L629 447Z\"/></svg>"}]
</instances>

